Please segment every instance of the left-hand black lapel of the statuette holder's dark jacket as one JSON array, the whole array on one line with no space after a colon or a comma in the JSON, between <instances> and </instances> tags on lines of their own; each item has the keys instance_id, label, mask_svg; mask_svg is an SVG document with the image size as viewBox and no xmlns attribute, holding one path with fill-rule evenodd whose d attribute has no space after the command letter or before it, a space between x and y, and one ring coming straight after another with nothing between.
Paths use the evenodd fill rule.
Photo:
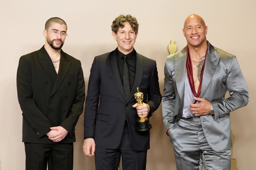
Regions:
<instances>
[{"instance_id":1,"label":"left-hand black lapel of the statuette holder's dark jacket","mask_svg":"<svg viewBox=\"0 0 256 170\"><path fill-rule=\"evenodd\" d=\"M120 73L119 73L119 69L118 69L116 50L112 51L109 54L109 65L110 65L110 71L111 71L112 77L114 79L114 82L115 82L118 90L122 94L123 98L126 101L126 97L125 97L125 93L124 93L124 87L123 87L121 77L120 77Z\"/></svg>"}]
</instances>

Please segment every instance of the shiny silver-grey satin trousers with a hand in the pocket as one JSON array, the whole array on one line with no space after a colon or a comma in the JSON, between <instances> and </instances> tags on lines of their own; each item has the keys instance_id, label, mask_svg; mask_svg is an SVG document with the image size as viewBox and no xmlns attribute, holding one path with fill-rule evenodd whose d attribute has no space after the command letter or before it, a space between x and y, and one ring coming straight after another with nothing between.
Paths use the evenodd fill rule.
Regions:
<instances>
[{"instance_id":1,"label":"shiny silver-grey satin trousers with a hand in the pocket","mask_svg":"<svg viewBox=\"0 0 256 170\"><path fill-rule=\"evenodd\" d=\"M201 155L205 170L230 170L231 150L214 151L204 136L200 118L192 120L180 119L169 132L177 170L201 170Z\"/></svg>"}]
</instances>

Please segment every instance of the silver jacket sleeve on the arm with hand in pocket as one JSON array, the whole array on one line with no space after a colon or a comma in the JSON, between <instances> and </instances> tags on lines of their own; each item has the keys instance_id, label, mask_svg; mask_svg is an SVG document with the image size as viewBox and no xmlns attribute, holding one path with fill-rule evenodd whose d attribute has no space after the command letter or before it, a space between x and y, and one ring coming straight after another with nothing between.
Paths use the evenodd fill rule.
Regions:
<instances>
[{"instance_id":1,"label":"silver jacket sleeve on the arm with hand in pocket","mask_svg":"<svg viewBox=\"0 0 256 170\"><path fill-rule=\"evenodd\" d=\"M164 81L164 94L162 97L162 114L165 126L165 131L167 132L173 124L173 114L175 107L175 89L172 81L172 74L168 68L168 58L165 61L165 81Z\"/></svg>"}]
</instances>

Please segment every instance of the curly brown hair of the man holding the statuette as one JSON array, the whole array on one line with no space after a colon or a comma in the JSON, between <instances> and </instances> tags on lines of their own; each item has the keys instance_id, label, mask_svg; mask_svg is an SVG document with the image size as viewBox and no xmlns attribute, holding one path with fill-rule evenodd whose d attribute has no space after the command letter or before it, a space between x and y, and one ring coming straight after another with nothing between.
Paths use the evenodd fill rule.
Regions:
<instances>
[{"instance_id":1,"label":"curly brown hair of the man holding the statuette","mask_svg":"<svg viewBox=\"0 0 256 170\"><path fill-rule=\"evenodd\" d=\"M137 19L135 17L132 17L131 15L119 15L112 23L111 29L113 32L117 33L119 28L124 27L124 23L129 22L131 27L134 29L135 34L137 34L139 29L139 24L137 22Z\"/></svg>"}]
</instances>

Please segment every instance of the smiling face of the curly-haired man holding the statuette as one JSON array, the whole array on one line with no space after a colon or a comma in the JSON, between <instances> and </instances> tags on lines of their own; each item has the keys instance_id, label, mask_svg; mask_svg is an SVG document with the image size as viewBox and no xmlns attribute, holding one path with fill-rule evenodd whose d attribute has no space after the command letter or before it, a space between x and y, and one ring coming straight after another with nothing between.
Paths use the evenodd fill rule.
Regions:
<instances>
[{"instance_id":1,"label":"smiling face of the curly-haired man holding the statuette","mask_svg":"<svg viewBox=\"0 0 256 170\"><path fill-rule=\"evenodd\" d=\"M124 23L123 28L119 28L117 33L112 32L112 36L117 41L117 48L123 54L129 54L133 51L133 45L136 41L138 32L135 34L134 29L129 22Z\"/></svg>"}]
</instances>

